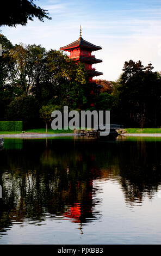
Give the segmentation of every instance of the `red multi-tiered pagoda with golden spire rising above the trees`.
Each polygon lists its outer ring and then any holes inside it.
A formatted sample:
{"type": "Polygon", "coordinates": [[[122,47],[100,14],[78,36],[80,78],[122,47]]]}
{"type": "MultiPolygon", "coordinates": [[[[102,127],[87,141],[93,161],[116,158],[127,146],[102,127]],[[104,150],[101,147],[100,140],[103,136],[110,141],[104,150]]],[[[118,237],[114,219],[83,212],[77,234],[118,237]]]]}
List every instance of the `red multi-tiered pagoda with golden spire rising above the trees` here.
{"type": "Polygon", "coordinates": [[[100,63],[102,62],[101,59],[96,59],[95,55],[92,55],[91,53],[93,51],[101,50],[102,47],[96,46],[91,44],[88,41],[85,41],[82,38],[82,29],[80,26],[80,37],[75,42],[72,42],[69,45],[66,45],[64,47],[61,47],[60,50],[70,52],[70,59],[75,60],[76,62],[84,63],[86,72],[89,77],[89,84],[90,86],[95,87],[102,87],[100,84],[96,84],[93,81],[94,76],[100,76],[103,75],[102,72],[96,71],[95,68],[92,68],[92,64],[100,63]]]}

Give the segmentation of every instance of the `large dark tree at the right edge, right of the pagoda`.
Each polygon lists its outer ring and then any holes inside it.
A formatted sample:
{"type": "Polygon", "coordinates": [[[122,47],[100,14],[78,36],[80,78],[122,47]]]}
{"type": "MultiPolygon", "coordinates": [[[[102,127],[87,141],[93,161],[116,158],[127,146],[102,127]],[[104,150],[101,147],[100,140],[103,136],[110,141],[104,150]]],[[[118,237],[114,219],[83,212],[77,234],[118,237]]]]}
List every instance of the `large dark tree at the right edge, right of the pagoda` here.
{"type": "Polygon", "coordinates": [[[130,126],[157,126],[160,115],[161,79],[152,64],[125,62],[119,81],[119,108],[123,123],[130,126]],[[158,117],[158,118],[157,118],[158,117]]]}

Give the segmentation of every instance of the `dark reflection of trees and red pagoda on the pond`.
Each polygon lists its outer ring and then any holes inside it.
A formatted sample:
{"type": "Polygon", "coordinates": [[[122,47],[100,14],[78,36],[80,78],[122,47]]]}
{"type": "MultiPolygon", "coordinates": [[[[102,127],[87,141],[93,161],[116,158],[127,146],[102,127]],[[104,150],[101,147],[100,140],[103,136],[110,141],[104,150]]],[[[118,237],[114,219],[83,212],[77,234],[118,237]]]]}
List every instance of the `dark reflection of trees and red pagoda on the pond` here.
{"type": "Polygon", "coordinates": [[[1,151],[0,230],[14,223],[101,218],[95,180],[119,182],[128,205],[153,198],[161,184],[160,142],[5,139],[1,151]]]}

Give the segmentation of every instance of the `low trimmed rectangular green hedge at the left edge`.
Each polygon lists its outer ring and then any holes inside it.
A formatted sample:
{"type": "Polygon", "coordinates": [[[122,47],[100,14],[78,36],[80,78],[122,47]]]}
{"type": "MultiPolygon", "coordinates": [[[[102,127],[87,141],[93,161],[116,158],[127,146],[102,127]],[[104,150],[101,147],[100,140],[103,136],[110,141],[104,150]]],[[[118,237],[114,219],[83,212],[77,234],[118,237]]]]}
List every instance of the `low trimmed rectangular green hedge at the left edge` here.
{"type": "Polygon", "coordinates": [[[22,131],[22,121],[0,121],[0,131],[22,131]]]}

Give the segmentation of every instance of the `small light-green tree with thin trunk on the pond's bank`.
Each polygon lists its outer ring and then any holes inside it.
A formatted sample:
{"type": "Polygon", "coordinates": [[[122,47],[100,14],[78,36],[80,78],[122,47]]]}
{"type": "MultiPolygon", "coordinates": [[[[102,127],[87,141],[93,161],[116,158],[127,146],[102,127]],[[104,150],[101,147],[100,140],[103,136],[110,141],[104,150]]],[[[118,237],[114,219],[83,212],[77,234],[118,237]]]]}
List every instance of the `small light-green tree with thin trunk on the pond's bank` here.
{"type": "Polygon", "coordinates": [[[46,123],[46,133],[47,133],[47,124],[52,121],[51,114],[54,110],[59,110],[59,106],[55,105],[47,105],[47,106],[42,106],[40,109],[40,117],[45,121],[46,123]]]}

